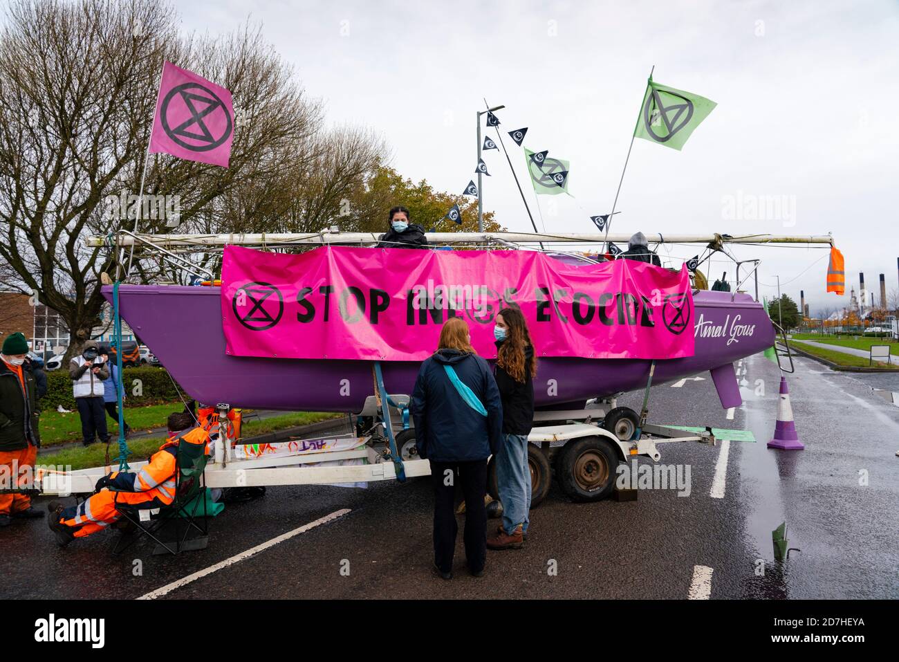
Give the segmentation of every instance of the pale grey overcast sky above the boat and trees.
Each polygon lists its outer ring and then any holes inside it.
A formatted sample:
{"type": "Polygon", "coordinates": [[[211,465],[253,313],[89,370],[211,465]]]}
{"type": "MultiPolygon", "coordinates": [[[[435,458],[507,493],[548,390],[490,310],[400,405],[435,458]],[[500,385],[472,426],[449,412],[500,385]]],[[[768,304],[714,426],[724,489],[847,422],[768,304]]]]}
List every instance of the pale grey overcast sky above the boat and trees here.
{"type": "MultiPolygon", "coordinates": [[[[520,177],[525,145],[571,162],[574,196],[540,196],[547,231],[592,231],[610,210],[645,80],[717,102],[681,152],[637,139],[614,232],[832,232],[845,299],[824,292],[826,250],[742,246],[761,257],[761,294],[813,313],[848,300],[859,271],[899,289],[899,4],[852,2],[307,2],[178,0],[186,31],[261,23],[329,121],[380,131],[392,165],[461,192],[476,165],[475,112],[498,112],[520,177]],[[753,202],[761,211],[752,215],[753,202]],[[765,204],[778,203],[776,218],[765,204]],[[736,217],[734,218],[734,208],[736,217]],[[743,210],[743,213],[741,213],[743,210]],[[747,218],[751,216],[752,218],[747,218]],[[815,262],[817,261],[817,262],[815,262]]],[[[239,104],[239,100],[236,100],[239,104]]],[[[491,135],[493,130],[491,130],[491,135]]],[[[502,152],[485,161],[485,209],[530,221],[502,152]]],[[[523,182],[540,219],[530,184],[523,182]]],[[[400,202],[400,201],[397,201],[400,202]]],[[[672,265],[697,251],[672,246],[672,265]]],[[[667,254],[662,248],[660,253],[667,254]]],[[[734,266],[717,260],[711,275],[734,266]]]]}

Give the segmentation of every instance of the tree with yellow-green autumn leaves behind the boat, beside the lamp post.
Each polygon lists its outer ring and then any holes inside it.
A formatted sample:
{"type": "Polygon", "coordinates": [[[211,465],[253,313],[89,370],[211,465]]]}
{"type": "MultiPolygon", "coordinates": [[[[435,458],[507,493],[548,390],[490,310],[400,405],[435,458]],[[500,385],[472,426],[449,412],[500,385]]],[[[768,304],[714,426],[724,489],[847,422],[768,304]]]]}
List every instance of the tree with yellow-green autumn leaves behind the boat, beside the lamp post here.
{"type": "MultiPolygon", "coordinates": [[[[369,178],[350,201],[343,217],[337,219],[341,229],[356,232],[386,232],[387,213],[391,207],[403,205],[411,222],[434,232],[476,232],[477,200],[463,195],[434,191],[426,180],[413,183],[393,168],[382,166],[369,178]],[[462,224],[444,218],[454,204],[461,211],[462,224]]],[[[486,232],[502,232],[493,211],[484,212],[486,232]]]]}

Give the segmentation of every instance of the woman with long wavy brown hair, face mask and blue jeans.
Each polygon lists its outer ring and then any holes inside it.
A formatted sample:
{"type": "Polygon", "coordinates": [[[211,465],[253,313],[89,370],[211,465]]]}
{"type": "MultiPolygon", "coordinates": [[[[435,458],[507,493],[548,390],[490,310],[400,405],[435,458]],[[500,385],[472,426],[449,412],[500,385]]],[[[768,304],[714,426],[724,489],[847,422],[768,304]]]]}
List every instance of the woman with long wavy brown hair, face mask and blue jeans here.
{"type": "Polygon", "coordinates": [[[528,434],[534,420],[532,379],[537,374],[537,359],[520,309],[500,310],[494,337],[498,348],[494,376],[503,400],[503,444],[494,461],[503,523],[487,540],[487,547],[510,550],[524,544],[530,524],[528,434]]]}

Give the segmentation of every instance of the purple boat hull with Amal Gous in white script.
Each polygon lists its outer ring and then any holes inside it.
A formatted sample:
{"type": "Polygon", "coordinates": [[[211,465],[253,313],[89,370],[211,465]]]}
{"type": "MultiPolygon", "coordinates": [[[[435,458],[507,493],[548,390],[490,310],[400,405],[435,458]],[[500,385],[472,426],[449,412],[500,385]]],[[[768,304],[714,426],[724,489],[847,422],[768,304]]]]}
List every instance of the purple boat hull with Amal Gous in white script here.
{"type": "MultiPolygon", "coordinates": [[[[104,287],[103,295],[111,300],[112,288],[104,287]]],[[[198,402],[358,412],[374,393],[369,361],[227,355],[218,287],[121,285],[119,300],[122,318],[198,402]]],[[[729,366],[774,344],[770,318],[748,295],[730,292],[700,291],[694,309],[695,354],[656,361],[653,383],[723,367],[713,372],[722,405],[739,404],[729,366]]],[[[412,392],[419,362],[382,362],[382,366],[388,392],[412,392]]],[[[583,405],[589,398],[642,389],[649,366],[650,361],[643,359],[541,357],[534,383],[536,405],[583,405]]]]}

